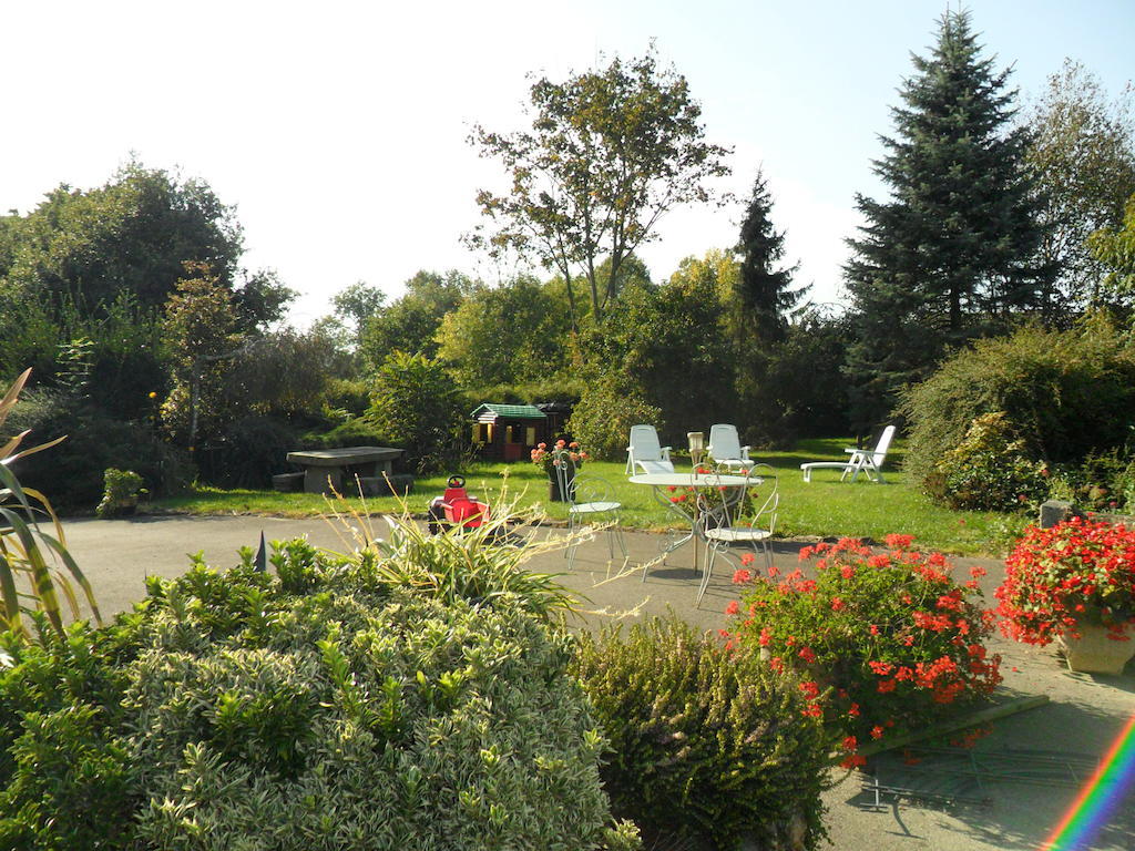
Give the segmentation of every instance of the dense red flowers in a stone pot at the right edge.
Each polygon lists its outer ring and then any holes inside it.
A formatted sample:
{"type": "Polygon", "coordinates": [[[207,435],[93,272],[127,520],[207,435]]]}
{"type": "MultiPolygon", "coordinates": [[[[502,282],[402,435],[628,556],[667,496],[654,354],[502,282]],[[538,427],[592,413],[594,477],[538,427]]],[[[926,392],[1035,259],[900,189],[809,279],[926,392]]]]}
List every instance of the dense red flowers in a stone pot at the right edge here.
{"type": "Polygon", "coordinates": [[[1059,642],[1073,671],[1120,673],[1135,655],[1135,529],[1081,517],[1026,529],[997,599],[1008,638],[1059,642]]]}

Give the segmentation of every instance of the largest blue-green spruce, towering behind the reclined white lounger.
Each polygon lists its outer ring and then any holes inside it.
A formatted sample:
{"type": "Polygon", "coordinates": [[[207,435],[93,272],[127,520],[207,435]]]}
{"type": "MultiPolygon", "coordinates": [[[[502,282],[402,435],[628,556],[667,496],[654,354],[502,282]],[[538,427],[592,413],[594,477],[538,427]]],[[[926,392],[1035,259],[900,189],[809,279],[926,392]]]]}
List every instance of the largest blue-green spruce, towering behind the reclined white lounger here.
{"type": "MultiPolygon", "coordinates": [[[[1024,169],[1027,137],[1012,128],[1009,70],[983,59],[967,12],[947,11],[928,59],[892,109],[893,138],[875,174],[891,200],[856,196],[866,219],[844,267],[857,343],[848,355],[852,419],[869,428],[896,391],[925,378],[948,347],[990,332],[1035,303],[1045,273],[1024,169]]],[[[1049,272],[1051,275],[1051,272],[1049,272]]]]}

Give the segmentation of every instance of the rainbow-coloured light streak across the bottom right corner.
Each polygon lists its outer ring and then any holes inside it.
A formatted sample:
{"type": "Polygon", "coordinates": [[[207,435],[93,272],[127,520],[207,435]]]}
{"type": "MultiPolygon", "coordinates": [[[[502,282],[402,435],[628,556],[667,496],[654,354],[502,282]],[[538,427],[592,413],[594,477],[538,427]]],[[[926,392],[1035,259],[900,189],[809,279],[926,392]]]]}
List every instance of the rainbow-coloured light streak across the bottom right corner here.
{"type": "Polygon", "coordinates": [[[1060,824],[1041,845],[1040,851],[1078,851],[1108,824],[1116,808],[1135,785],[1135,715],[1112,742],[1060,824]]]}

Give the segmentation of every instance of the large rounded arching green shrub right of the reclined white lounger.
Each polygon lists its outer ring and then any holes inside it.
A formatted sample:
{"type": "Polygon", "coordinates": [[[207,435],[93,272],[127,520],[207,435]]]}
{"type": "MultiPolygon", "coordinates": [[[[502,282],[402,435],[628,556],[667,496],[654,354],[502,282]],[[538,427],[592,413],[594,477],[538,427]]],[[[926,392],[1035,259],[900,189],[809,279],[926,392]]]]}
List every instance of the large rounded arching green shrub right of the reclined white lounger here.
{"type": "Polygon", "coordinates": [[[1078,465],[1123,446],[1135,421],[1135,348],[1128,335],[1093,318],[1068,331],[1026,327],[987,339],[942,363],[903,395],[905,469],[926,482],[982,414],[1003,411],[1023,455],[1078,465]]]}

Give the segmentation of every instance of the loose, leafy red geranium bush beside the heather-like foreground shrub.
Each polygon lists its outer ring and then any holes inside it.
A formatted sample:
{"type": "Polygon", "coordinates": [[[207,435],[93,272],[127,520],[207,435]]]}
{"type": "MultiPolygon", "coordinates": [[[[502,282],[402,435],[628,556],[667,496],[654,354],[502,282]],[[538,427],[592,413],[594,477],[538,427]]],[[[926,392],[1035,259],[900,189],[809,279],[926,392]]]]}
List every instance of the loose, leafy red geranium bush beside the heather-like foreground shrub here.
{"type": "Polygon", "coordinates": [[[920,730],[987,698],[1001,681],[1000,657],[984,640],[994,618],[981,605],[977,579],[958,582],[941,553],[911,549],[890,534],[890,551],[855,539],[800,551],[802,570],[768,575],[742,559],[733,575],[741,600],[724,631],[740,652],[804,677],[805,713],[824,718],[842,743],[844,767],[863,765],[864,748],[920,730]]]}

